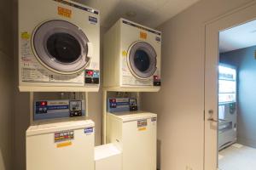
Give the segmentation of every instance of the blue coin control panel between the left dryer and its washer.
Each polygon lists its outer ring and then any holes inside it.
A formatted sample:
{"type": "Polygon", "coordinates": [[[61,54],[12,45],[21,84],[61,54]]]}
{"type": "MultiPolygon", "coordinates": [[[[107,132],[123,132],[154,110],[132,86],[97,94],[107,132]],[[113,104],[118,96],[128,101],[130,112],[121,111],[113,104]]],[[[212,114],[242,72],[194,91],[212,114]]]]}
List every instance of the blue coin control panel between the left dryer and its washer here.
{"type": "Polygon", "coordinates": [[[34,102],[34,121],[84,115],[84,100],[38,100],[34,102]]]}

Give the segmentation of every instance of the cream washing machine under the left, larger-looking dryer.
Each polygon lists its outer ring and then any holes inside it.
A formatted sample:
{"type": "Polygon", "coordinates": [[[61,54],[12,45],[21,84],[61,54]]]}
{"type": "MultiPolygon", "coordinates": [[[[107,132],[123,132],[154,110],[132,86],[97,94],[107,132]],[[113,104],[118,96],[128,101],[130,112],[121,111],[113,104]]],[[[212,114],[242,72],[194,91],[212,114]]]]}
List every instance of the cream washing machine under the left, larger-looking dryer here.
{"type": "Polygon", "coordinates": [[[44,122],[26,130],[26,170],[95,170],[94,122],[44,122]]]}

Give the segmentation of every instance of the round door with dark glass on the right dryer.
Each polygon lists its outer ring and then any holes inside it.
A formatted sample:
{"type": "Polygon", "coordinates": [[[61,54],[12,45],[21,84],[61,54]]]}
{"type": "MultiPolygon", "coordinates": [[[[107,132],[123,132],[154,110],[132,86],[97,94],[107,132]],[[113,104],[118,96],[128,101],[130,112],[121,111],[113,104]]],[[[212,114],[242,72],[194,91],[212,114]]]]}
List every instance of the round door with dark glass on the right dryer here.
{"type": "Polygon", "coordinates": [[[156,53],[148,42],[135,42],[128,56],[131,73],[140,79],[152,77],[156,71],[156,53]]]}

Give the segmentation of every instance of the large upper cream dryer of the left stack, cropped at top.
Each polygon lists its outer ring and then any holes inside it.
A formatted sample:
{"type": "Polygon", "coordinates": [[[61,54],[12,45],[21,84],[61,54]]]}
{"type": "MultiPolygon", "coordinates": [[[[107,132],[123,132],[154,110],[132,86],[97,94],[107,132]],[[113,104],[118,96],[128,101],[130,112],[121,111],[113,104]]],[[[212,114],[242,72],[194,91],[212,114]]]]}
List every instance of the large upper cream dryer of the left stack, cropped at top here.
{"type": "Polygon", "coordinates": [[[73,1],[19,1],[20,91],[32,87],[98,91],[99,22],[99,11],[73,1]]]}

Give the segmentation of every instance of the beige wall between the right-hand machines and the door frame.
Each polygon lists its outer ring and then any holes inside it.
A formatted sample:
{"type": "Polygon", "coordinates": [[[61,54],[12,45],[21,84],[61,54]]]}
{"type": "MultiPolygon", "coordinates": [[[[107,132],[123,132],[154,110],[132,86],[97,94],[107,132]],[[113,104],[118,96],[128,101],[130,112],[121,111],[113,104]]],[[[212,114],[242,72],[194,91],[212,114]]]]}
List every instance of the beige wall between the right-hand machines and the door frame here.
{"type": "Polygon", "coordinates": [[[143,94],[158,114],[161,170],[203,169],[204,23],[250,0],[202,0],[160,26],[162,88],[143,94]]]}

